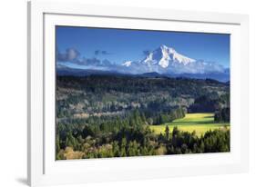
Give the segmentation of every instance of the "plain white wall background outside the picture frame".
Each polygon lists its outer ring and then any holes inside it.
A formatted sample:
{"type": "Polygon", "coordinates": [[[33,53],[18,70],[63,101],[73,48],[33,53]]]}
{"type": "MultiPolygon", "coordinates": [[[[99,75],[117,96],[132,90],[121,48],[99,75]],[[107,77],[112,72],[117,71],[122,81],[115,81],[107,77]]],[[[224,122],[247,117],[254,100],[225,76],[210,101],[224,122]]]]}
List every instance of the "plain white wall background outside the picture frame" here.
{"type": "MultiPolygon", "coordinates": [[[[75,1],[79,0],[73,0],[75,1]]],[[[256,6],[253,5],[255,1],[84,0],[82,2],[95,5],[124,5],[250,15],[250,172],[165,180],[93,183],[87,186],[255,186],[256,6]]],[[[2,0],[0,2],[0,56],[0,186],[26,186],[26,0],[2,0]]]]}

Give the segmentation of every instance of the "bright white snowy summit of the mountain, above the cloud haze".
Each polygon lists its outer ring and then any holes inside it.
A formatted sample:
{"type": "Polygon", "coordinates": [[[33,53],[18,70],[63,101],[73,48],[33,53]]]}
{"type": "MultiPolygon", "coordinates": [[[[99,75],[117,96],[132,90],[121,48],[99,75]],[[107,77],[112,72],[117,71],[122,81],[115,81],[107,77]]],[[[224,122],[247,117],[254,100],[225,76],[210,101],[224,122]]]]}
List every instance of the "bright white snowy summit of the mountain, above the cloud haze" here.
{"type": "Polygon", "coordinates": [[[195,62],[194,59],[179,54],[175,49],[162,44],[159,48],[149,53],[142,61],[142,64],[159,64],[162,68],[167,68],[171,63],[186,65],[193,62],[195,62]]]}

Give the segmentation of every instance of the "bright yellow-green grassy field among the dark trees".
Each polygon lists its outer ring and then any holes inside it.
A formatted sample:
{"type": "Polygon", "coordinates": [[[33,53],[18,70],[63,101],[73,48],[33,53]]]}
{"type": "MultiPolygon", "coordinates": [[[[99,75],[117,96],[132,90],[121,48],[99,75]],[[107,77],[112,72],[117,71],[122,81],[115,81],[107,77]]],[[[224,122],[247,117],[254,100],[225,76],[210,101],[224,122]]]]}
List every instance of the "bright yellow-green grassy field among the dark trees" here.
{"type": "Polygon", "coordinates": [[[214,113],[187,113],[182,119],[172,123],[150,125],[150,128],[155,133],[165,133],[166,125],[169,125],[170,132],[174,126],[177,126],[180,131],[189,133],[195,131],[198,136],[210,130],[230,128],[230,123],[214,123],[214,113]]]}

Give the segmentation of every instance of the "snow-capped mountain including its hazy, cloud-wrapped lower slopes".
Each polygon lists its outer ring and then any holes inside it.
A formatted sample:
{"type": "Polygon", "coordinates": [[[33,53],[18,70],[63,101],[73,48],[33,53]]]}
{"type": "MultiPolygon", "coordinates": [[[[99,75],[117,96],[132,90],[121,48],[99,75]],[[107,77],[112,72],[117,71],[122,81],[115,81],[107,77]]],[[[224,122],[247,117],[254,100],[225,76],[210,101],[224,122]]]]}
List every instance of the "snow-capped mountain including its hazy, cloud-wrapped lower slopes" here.
{"type": "Polygon", "coordinates": [[[122,64],[123,72],[143,74],[157,72],[159,74],[209,74],[222,73],[224,67],[214,62],[195,60],[179,54],[174,48],[160,45],[140,61],[127,61],[122,64]]]}

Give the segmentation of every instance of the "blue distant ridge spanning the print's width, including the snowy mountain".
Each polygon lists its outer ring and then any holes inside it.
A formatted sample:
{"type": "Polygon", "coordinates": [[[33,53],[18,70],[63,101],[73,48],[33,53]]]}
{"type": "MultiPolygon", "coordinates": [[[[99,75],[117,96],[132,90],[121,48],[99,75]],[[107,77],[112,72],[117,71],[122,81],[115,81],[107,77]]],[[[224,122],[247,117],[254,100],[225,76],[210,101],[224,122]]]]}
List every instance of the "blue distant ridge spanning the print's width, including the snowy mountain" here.
{"type": "MultiPolygon", "coordinates": [[[[106,61],[106,60],[105,60],[106,61]]],[[[104,62],[105,62],[104,61],[104,62]]],[[[101,62],[100,65],[89,64],[84,69],[69,68],[65,64],[57,64],[57,73],[72,75],[89,74],[130,74],[168,77],[190,77],[199,79],[215,79],[220,82],[230,81],[230,69],[215,62],[195,60],[184,54],[179,54],[174,48],[160,45],[149,52],[142,60],[125,61],[123,64],[101,62]]]]}

